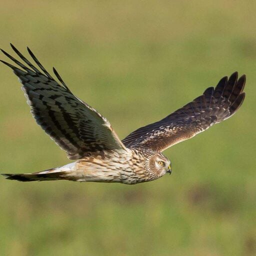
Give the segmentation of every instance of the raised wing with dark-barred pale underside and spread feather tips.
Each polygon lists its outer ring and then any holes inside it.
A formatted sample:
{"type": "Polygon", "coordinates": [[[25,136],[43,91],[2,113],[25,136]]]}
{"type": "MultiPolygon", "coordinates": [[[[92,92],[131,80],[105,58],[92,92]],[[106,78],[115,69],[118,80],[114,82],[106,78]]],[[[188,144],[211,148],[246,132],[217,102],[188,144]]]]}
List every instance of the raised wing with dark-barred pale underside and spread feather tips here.
{"type": "Polygon", "coordinates": [[[1,51],[19,68],[1,61],[13,69],[23,84],[22,89],[36,122],[67,152],[68,158],[81,158],[88,151],[125,149],[108,120],[77,98],[54,67],[53,71],[61,85],[44,69],[29,48],[30,56],[41,70],[12,44],[11,47],[26,65],[4,50],[1,51]]]}

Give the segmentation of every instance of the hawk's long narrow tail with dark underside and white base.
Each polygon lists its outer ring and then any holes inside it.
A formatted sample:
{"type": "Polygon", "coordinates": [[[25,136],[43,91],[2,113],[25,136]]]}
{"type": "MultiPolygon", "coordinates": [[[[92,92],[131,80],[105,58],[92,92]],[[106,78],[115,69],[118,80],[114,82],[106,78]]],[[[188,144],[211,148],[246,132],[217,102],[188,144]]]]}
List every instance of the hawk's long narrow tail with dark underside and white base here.
{"type": "Polygon", "coordinates": [[[14,179],[18,181],[42,181],[42,180],[58,180],[68,179],[73,180],[71,174],[71,164],[66,164],[61,167],[48,170],[33,172],[33,173],[2,173],[6,179],[14,179]]]}

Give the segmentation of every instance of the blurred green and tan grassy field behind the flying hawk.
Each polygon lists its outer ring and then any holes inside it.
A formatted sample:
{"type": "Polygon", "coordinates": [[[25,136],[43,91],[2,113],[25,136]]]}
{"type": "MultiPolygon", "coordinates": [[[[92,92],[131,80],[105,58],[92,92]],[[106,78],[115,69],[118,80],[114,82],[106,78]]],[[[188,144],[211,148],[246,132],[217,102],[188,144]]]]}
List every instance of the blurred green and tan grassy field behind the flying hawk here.
{"type": "MultiPolygon", "coordinates": [[[[137,185],[0,178],[0,255],[255,255],[255,1],[1,1],[0,47],[29,46],[120,138],[247,75],[227,121],[169,148],[137,185]]],[[[0,58],[6,60],[3,54],[0,58]]],[[[70,162],[0,65],[0,170],[70,162]]]]}

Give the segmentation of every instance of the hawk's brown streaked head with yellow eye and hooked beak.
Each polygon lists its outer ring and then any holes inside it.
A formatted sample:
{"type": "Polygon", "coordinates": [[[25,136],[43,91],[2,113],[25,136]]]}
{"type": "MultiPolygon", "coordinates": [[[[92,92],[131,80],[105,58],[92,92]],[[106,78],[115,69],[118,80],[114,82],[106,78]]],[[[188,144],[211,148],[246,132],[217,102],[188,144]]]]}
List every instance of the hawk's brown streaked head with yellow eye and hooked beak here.
{"type": "Polygon", "coordinates": [[[170,160],[167,159],[162,153],[153,155],[149,160],[150,170],[156,173],[159,177],[166,172],[171,173],[170,160]]]}

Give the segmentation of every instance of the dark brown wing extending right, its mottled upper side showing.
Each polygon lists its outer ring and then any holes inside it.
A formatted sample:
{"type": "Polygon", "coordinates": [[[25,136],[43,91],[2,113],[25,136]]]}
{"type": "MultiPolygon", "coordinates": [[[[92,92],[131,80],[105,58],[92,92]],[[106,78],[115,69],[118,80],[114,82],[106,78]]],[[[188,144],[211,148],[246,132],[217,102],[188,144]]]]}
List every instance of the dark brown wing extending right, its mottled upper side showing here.
{"type": "Polygon", "coordinates": [[[203,94],[160,121],[131,132],[122,142],[126,147],[142,146],[157,151],[191,138],[215,123],[233,115],[240,107],[245,93],[245,75],[237,81],[237,72],[229,79],[223,77],[215,88],[203,94]]]}

